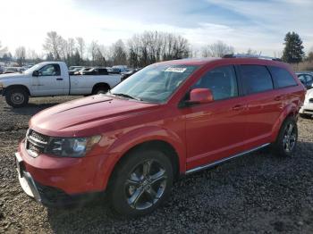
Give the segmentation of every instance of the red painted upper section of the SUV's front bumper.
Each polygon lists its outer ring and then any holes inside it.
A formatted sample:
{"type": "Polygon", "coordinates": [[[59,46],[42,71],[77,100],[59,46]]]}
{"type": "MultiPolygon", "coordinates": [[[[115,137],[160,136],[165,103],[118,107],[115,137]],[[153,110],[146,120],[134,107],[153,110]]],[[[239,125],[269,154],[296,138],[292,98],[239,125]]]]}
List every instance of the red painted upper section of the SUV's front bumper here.
{"type": "Polygon", "coordinates": [[[105,190],[104,180],[99,180],[103,177],[98,174],[103,171],[99,168],[101,155],[70,158],[40,154],[32,157],[25,148],[24,140],[18,154],[21,155],[25,171],[42,185],[61,189],[69,195],[105,190]]]}

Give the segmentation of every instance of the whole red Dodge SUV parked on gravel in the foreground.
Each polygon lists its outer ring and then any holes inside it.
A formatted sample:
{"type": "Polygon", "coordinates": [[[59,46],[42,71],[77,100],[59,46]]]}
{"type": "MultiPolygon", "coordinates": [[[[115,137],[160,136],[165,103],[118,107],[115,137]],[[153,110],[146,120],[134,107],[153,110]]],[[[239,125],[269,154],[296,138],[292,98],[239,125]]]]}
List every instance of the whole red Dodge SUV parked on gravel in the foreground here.
{"type": "Polygon", "coordinates": [[[43,205],[106,191],[115,212],[150,213],[180,175],[269,145],[292,155],[304,96],[274,59],[155,63],[106,95],[33,116],[15,154],[21,187],[43,205]]]}

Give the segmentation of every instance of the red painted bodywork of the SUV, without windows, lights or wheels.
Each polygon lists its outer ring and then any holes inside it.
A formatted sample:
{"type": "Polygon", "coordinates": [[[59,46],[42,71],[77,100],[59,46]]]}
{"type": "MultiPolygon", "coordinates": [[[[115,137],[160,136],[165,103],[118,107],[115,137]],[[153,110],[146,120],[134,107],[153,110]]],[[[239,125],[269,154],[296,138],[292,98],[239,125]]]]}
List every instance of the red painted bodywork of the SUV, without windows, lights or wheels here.
{"type": "Polygon", "coordinates": [[[304,99],[304,88],[294,76],[296,87],[179,108],[190,86],[216,66],[260,64],[291,69],[285,63],[238,58],[165,63],[200,65],[166,104],[89,96],[55,105],[31,118],[30,128],[48,136],[102,135],[97,146],[80,159],[52,155],[32,158],[21,143],[19,152],[33,178],[69,194],[104,190],[121,157],[131,147],[150,140],[162,140],[173,146],[179,157],[179,170],[184,173],[274,142],[285,117],[296,115],[304,99]]]}

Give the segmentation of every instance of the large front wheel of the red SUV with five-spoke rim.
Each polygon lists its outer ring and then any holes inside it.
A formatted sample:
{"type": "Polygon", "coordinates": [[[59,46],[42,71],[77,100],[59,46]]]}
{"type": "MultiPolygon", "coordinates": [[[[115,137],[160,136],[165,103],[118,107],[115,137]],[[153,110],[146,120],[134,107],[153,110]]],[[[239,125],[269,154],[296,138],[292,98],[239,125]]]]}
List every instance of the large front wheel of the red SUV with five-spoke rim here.
{"type": "Polygon", "coordinates": [[[115,215],[126,218],[153,212],[170,195],[173,167],[168,157],[157,150],[136,150],[114,171],[108,188],[115,215]]]}

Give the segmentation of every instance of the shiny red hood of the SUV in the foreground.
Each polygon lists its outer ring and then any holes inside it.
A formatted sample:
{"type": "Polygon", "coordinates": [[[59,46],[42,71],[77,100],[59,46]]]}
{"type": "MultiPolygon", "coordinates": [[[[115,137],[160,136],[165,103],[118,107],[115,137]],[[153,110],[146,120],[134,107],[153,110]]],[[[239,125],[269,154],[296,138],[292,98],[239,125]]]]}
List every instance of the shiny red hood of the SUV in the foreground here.
{"type": "Polygon", "coordinates": [[[106,95],[83,97],[37,113],[30,119],[30,128],[51,137],[90,136],[157,106],[106,95]]]}

